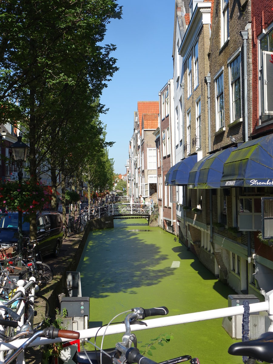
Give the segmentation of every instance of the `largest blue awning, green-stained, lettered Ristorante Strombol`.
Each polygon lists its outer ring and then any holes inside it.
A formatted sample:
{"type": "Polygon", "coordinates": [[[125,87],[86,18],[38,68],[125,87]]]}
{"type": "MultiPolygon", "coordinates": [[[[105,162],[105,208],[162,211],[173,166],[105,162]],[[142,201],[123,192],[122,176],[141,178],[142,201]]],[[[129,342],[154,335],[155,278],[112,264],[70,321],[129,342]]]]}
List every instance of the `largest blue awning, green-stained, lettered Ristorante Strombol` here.
{"type": "Polygon", "coordinates": [[[220,186],[273,186],[273,134],[234,150],[223,165],[220,186]]]}

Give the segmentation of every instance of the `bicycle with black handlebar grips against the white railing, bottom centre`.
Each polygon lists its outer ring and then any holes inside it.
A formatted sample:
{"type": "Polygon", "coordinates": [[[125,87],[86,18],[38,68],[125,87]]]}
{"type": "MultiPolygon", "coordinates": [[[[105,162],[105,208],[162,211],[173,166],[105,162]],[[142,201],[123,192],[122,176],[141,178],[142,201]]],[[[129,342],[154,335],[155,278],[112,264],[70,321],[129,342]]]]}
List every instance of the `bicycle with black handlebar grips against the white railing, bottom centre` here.
{"type": "MultiPolygon", "coordinates": [[[[84,351],[78,352],[76,354],[76,360],[78,364],[131,364],[140,362],[141,364],[156,364],[153,360],[141,355],[137,348],[137,337],[135,336],[135,334],[131,333],[130,325],[134,324],[137,320],[144,319],[145,317],[166,315],[169,313],[169,310],[164,306],[151,309],[143,309],[141,307],[137,307],[126,312],[130,313],[128,313],[124,319],[126,332],[122,337],[122,341],[117,343],[115,348],[110,348],[106,350],[103,350],[102,347],[98,348],[95,344],[93,344],[95,346],[95,351],[86,351],[83,347],[84,351]],[[132,347],[132,344],[134,345],[134,347],[132,347]],[[98,350],[96,350],[96,348],[99,349],[100,353],[98,353],[98,350]]],[[[114,320],[114,318],[112,320],[114,320]]],[[[112,322],[112,320],[110,321],[110,323],[112,322]]],[[[107,325],[107,327],[110,325],[110,323],[107,325]]],[[[187,360],[190,361],[190,364],[200,364],[198,358],[192,358],[190,355],[180,356],[174,359],[163,361],[159,364],[175,364],[187,360]]]]}

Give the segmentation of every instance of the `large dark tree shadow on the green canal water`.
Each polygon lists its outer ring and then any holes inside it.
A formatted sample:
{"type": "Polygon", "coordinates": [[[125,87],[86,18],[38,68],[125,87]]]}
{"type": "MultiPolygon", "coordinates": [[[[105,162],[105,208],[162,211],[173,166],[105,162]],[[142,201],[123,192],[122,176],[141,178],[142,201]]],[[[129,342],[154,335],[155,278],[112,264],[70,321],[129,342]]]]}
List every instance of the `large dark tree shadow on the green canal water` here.
{"type": "MultiPolygon", "coordinates": [[[[131,227],[131,223],[119,225],[131,227]]],[[[173,269],[159,266],[169,256],[142,236],[120,226],[91,233],[78,266],[82,295],[103,298],[117,292],[135,294],[134,288],[151,286],[173,275],[173,269]]]]}

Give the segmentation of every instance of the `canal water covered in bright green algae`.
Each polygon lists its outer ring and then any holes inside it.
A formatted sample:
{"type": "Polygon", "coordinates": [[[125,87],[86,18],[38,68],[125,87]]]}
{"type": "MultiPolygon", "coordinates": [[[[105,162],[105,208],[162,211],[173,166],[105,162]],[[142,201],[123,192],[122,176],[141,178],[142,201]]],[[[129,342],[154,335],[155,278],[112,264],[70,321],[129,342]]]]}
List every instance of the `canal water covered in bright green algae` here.
{"type": "MultiPolygon", "coordinates": [[[[235,292],[215,279],[177,237],[147,226],[145,219],[114,220],[114,226],[89,234],[78,266],[82,296],[90,297],[90,327],[107,324],[116,314],[139,306],[166,306],[169,316],[227,307],[227,296],[235,292]]],[[[241,357],[227,353],[235,341],[221,324],[219,318],[135,335],[140,350],[161,334],[173,336],[164,346],[154,345],[149,357],[157,362],[191,355],[201,364],[242,363],[241,357]]],[[[103,347],[114,347],[121,339],[122,334],[106,336],[103,347]]]]}

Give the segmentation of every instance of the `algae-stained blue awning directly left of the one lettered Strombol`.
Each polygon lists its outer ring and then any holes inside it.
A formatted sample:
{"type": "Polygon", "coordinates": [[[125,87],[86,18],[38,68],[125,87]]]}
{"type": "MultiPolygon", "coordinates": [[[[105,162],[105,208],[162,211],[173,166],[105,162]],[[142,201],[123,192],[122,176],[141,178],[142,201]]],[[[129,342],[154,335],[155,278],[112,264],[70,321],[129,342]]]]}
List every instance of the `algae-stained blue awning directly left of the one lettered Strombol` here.
{"type": "Polygon", "coordinates": [[[197,188],[220,188],[223,165],[230,156],[230,153],[235,149],[237,148],[230,147],[210,154],[210,157],[206,159],[199,169],[197,188]]]}

